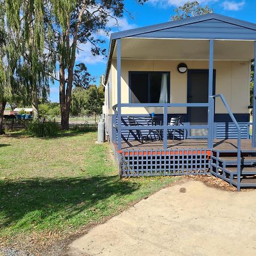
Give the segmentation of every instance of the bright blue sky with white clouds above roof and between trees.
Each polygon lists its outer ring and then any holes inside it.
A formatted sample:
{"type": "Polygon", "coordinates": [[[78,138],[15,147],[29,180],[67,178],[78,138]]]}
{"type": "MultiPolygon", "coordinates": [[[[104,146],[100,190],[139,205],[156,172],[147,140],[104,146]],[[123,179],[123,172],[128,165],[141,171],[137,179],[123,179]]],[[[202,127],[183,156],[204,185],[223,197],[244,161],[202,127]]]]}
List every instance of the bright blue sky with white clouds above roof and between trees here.
{"type": "MultiPolygon", "coordinates": [[[[191,0],[192,1],[192,0],[191,0]]],[[[209,5],[214,9],[214,13],[232,16],[237,19],[243,19],[256,23],[256,1],[255,0],[197,0],[202,5],[209,5]]],[[[109,21],[109,27],[112,32],[127,30],[130,28],[143,27],[151,24],[167,22],[170,16],[174,14],[177,6],[183,5],[187,0],[148,0],[143,6],[138,5],[135,0],[126,0],[126,10],[129,10],[133,18],[125,14],[123,18],[118,19],[119,27],[115,26],[115,21],[109,21]]],[[[108,50],[109,38],[106,35],[99,35],[106,40],[102,46],[108,50]]],[[[106,68],[106,59],[104,56],[90,56],[90,46],[85,44],[80,46],[84,51],[80,51],[77,56],[77,63],[84,62],[88,71],[97,80],[104,74],[106,68]]],[[[59,84],[56,82],[51,85],[49,99],[52,102],[59,102],[59,84]]]]}

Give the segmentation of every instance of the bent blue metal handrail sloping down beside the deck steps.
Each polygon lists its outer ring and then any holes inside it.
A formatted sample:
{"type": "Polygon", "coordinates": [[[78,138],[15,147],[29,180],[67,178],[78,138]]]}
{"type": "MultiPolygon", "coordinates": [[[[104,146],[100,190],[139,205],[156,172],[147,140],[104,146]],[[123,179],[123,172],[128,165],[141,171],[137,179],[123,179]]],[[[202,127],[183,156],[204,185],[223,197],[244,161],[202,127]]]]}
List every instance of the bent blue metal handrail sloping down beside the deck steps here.
{"type": "Polygon", "coordinates": [[[216,94],[213,96],[210,96],[212,98],[217,98],[220,97],[226,110],[228,110],[229,116],[232,119],[234,125],[237,128],[237,191],[240,191],[240,184],[241,184],[241,128],[238,125],[238,122],[236,120],[236,118],[234,117],[231,109],[229,108],[228,103],[225,100],[225,97],[220,93],[220,94],[216,94]]]}

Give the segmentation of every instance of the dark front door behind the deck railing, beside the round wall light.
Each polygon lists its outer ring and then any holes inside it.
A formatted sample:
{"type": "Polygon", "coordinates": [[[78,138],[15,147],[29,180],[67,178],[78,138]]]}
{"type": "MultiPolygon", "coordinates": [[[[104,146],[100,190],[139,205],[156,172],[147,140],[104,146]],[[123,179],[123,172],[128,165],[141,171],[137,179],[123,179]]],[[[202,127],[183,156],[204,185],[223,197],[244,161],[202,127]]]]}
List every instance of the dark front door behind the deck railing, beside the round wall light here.
{"type": "MultiPolygon", "coordinates": [[[[215,94],[215,75],[213,71],[213,94],[215,94]]],[[[189,69],[188,70],[188,103],[207,103],[208,102],[208,69],[189,69]]],[[[188,122],[191,125],[207,125],[208,108],[193,107],[188,108],[188,122]]],[[[207,129],[191,129],[188,137],[207,138],[207,129]]]]}

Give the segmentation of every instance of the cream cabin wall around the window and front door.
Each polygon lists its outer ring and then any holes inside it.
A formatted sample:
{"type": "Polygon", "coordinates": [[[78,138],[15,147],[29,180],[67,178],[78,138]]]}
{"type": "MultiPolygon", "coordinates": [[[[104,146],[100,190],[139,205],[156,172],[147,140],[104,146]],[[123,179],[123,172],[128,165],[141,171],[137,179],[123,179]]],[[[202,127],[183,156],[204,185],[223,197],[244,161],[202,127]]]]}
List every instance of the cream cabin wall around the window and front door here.
{"type": "MultiPolygon", "coordinates": [[[[122,60],[121,86],[122,103],[129,103],[129,71],[168,71],[171,73],[171,103],[187,102],[187,73],[177,71],[177,65],[184,62],[188,69],[208,69],[208,61],[188,60],[122,60]]],[[[216,94],[224,94],[233,113],[248,113],[250,98],[250,62],[214,61],[216,69],[216,94]]],[[[117,104],[117,64],[112,61],[109,73],[110,110],[117,104]]],[[[163,113],[162,108],[122,108],[122,114],[163,113]]],[[[168,113],[187,113],[186,108],[168,108],[168,113]]],[[[220,100],[216,101],[216,113],[227,113],[220,100]]]]}

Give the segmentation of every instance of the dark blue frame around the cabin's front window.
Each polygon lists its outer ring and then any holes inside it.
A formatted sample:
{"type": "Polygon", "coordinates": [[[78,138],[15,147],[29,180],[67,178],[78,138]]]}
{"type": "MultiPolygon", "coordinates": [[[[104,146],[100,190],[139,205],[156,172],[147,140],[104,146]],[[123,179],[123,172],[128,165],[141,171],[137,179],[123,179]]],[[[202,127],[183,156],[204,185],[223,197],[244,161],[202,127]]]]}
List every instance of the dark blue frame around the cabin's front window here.
{"type": "MultiPolygon", "coordinates": [[[[147,74],[147,89],[148,89],[148,95],[147,95],[147,104],[151,103],[150,102],[150,74],[151,73],[167,73],[169,75],[168,79],[168,103],[171,102],[171,72],[170,71],[129,71],[129,103],[132,104],[131,102],[131,75],[133,74],[147,74]]],[[[141,103],[143,104],[143,103],[141,103]]],[[[160,103],[159,103],[160,104],[160,103]]]]}

